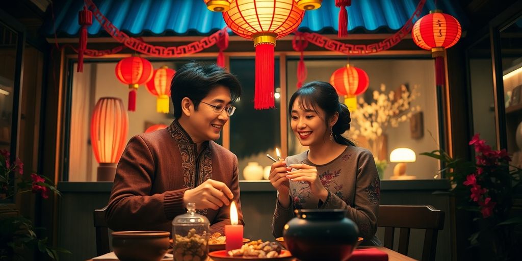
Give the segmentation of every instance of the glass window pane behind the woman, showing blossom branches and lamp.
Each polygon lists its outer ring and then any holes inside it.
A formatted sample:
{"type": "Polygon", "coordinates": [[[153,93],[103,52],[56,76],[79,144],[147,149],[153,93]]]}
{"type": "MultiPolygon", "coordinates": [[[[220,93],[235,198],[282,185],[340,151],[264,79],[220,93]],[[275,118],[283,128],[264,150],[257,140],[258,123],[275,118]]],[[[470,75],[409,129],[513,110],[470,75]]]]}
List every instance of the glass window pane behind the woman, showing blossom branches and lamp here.
{"type": "MultiPolygon", "coordinates": [[[[296,90],[296,68],[298,61],[288,61],[288,100],[296,90]]],[[[390,179],[397,163],[389,162],[389,153],[396,148],[406,147],[412,149],[416,155],[416,162],[407,163],[407,175],[416,179],[433,179],[438,170],[438,162],[431,158],[419,156],[419,153],[438,148],[438,123],[437,123],[437,99],[434,80],[434,62],[431,59],[368,59],[350,60],[351,66],[363,69],[369,77],[369,88],[357,97],[358,103],[355,111],[352,109],[352,123],[350,131],[345,136],[352,138],[358,146],[372,151],[376,160],[383,162],[382,179],[390,179]],[[365,132],[361,125],[371,124],[370,116],[365,116],[372,103],[376,103],[379,113],[385,114],[386,104],[374,100],[374,92],[384,94],[387,102],[396,103],[401,99],[401,86],[408,92],[419,94],[410,102],[409,109],[394,115],[389,121],[376,121],[378,128],[382,129],[382,135],[372,137],[371,132],[365,132]],[[390,91],[394,92],[392,97],[390,91]],[[368,105],[361,104],[360,102],[368,105]],[[365,108],[364,108],[365,107],[365,108]],[[414,110],[411,110],[414,108],[414,110]],[[357,116],[359,115],[359,116],[357,116]],[[398,120],[400,119],[400,120],[398,120]],[[397,126],[391,126],[398,120],[397,126]],[[430,134],[431,133],[431,134],[430,134]],[[375,146],[372,146],[374,144],[375,146]],[[384,165],[386,165],[385,167],[384,165]]],[[[307,60],[305,65],[308,71],[306,82],[319,80],[330,81],[330,76],[335,70],[346,66],[347,60],[307,60]]],[[[404,92],[403,92],[404,93],[404,92]]],[[[341,102],[344,97],[340,97],[341,102]]],[[[288,102],[288,101],[287,101],[288,102]]],[[[347,101],[348,102],[348,101],[347,101]]],[[[348,105],[350,107],[350,105],[348,105]]],[[[288,153],[296,153],[307,150],[299,144],[291,128],[288,128],[288,153]]]]}

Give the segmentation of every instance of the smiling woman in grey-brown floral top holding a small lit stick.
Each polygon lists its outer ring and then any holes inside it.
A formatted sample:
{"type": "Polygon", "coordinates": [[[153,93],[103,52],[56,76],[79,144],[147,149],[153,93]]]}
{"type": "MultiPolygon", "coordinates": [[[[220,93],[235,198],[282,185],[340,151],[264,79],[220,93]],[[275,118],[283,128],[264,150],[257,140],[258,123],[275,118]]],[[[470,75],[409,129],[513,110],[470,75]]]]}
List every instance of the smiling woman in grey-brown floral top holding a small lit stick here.
{"type": "Polygon", "coordinates": [[[364,244],[380,245],[379,176],[372,153],[341,136],[350,129],[347,106],[328,82],[314,81],[292,95],[288,108],[293,133],[310,149],[272,164],[270,183],[278,192],[274,236],[282,236],[294,209],[340,208],[357,223],[364,244]]]}

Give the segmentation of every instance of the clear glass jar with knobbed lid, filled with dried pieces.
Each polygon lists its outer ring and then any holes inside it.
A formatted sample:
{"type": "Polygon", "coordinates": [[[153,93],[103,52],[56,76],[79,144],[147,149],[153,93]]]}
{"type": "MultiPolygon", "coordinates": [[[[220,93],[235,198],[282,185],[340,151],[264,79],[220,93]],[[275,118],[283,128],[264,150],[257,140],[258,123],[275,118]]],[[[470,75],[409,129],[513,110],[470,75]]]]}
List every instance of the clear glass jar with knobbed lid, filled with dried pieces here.
{"type": "Polygon", "coordinates": [[[196,204],[188,203],[187,212],[172,220],[174,260],[206,260],[209,229],[207,217],[196,213],[196,204]]]}

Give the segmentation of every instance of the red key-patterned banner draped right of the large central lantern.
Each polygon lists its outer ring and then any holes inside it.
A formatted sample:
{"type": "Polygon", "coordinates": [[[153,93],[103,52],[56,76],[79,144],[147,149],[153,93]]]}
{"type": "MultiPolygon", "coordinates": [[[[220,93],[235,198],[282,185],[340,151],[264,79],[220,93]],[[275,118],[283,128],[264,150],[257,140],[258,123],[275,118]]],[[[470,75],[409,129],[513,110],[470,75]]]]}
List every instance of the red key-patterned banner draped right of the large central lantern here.
{"type": "Polygon", "coordinates": [[[394,45],[396,45],[402,38],[404,38],[406,35],[408,35],[411,31],[411,28],[413,27],[413,19],[418,19],[420,15],[422,14],[422,7],[424,7],[424,4],[426,3],[426,0],[421,0],[419,4],[417,5],[417,9],[413,12],[413,15],[410,17],[408,21],[402,26],[402,28],[397,31],[394,35],[392,35],[389,38],[384,39],[381,42],[378,43],[372,43],[372,44],[349,44],[349,43],[341,43],[336,40],[331,40],[321,34],[318,33],[308,33],[303,32],[304,38],[308,40],[310,43],[313,43],[319,47],[322,47],[324,49],[334,51],[334,52],[340,52],[345,53],[348,55],[365,55],[365,54],[372,54],[372,53],[378,53],[381,51],[388,50],[392,48],[394,45]]]}

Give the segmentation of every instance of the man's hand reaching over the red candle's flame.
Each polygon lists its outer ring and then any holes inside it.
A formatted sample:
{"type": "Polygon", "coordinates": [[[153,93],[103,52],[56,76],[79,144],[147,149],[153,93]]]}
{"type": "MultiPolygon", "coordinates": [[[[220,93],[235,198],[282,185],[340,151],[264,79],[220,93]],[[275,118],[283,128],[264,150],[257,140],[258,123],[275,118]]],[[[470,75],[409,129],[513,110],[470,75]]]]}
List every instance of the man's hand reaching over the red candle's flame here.
{"type": "Polygon", "coordinates": [[[185,205],[193,202],[197,209],[218,209],[223,205],[228,206],[232,198],[234,198],[234,195],[227,185],[208,179],[199,186],[185,191],[183,202],[185,205]]]}

